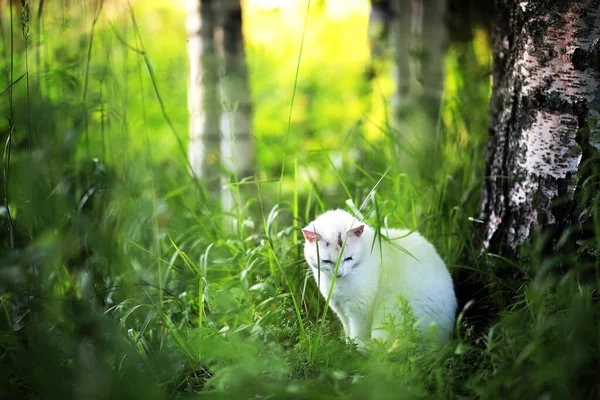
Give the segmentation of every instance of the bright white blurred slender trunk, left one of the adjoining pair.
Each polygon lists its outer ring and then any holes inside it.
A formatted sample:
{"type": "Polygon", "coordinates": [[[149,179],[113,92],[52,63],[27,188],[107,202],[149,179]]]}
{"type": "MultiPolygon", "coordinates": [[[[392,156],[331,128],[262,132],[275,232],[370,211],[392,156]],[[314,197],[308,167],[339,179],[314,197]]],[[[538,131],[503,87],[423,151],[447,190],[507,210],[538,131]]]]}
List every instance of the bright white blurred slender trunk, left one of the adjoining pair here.
{"type": "Polygon", "coordinates": [[[194,174],[218,192],[220,163],[217,55],[214,43],[212,0],[186,0],[190,80],[188,157],[194,174]]]}

